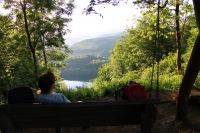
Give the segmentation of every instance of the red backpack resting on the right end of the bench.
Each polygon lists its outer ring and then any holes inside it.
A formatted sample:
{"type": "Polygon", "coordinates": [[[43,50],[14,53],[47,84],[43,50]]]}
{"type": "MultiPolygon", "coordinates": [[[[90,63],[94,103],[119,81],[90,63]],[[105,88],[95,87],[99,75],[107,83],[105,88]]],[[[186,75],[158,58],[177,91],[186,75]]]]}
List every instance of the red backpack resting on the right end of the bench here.
{"type": "Polygon", "coordinates": [[[127,86],[124,90],[124,96],[126,97],[127,100],[147,98],[145,87],[138,83],[133,83],[127,86]]]}

